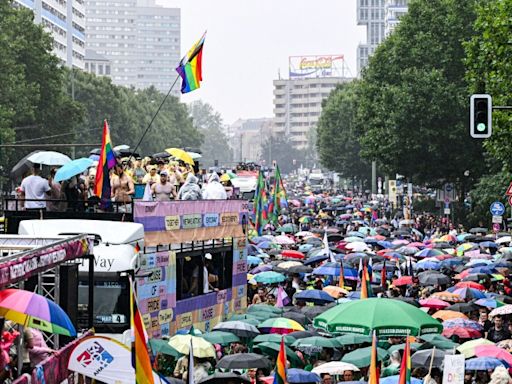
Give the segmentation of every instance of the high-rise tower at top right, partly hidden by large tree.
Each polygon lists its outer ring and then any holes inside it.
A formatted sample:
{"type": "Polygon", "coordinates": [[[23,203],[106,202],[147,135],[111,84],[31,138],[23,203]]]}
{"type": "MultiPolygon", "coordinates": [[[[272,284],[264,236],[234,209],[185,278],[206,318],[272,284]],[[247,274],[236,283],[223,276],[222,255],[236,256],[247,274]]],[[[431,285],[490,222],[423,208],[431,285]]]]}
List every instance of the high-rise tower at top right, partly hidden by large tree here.
{"type": "Polygon", "coordinates": [[[385,37],[386,0],[357,0],[357,24],[366,26],[366,43],[357,47],[357,73],[385,37]]]}

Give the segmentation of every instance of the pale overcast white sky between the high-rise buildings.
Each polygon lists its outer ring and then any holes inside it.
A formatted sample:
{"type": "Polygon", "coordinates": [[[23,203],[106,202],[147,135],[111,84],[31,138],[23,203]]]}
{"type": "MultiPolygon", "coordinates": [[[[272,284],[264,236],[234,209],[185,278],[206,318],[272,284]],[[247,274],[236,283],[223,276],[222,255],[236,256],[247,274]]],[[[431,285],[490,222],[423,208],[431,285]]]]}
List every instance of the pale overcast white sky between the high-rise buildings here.
{"type": "Polygon", "coordinates": [[[203,100],[224,122],[273,116],[272,81],[288,76],[288,57],[343,54],[357,75],[356,0],[156,0],[181,8],[182,55],[207,30],[201,88],[182,96],[203,100]]]}

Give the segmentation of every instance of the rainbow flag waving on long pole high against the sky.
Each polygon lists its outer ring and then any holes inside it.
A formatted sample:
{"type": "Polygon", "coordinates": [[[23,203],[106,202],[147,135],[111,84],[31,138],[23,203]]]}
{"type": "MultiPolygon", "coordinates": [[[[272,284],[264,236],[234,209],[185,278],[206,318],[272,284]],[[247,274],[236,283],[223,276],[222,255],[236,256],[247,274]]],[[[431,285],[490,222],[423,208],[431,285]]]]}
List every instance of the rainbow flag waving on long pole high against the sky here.
{"type": "Polygon", "coordinates": [[[181,76],[181,93],[188,93],[201,86],[203,80],[202,57],[206,32],[181,59],[176,71],[181,76]]]}

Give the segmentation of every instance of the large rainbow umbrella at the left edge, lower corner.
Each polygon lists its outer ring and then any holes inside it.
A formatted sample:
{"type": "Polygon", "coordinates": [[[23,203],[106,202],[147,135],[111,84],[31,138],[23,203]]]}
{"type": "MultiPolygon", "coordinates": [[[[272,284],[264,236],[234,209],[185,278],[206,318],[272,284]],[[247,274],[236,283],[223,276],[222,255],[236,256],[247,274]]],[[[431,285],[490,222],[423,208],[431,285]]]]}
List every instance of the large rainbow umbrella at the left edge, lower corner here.
{"type": "Polygon", "coordinates": [[[22,289],[0,291],[0,316],[24,327],[75,336],[76,330],[64,310],[46,297],[22,289]]]}

